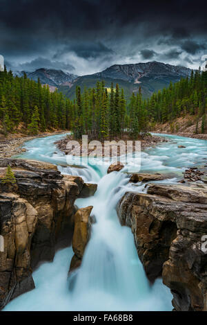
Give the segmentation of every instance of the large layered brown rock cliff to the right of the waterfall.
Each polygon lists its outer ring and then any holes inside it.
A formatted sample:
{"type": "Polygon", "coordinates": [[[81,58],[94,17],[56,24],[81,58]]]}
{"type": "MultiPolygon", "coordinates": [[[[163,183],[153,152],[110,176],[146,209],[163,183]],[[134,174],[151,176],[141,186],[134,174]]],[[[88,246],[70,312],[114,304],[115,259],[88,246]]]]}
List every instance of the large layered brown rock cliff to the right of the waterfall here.
{"type": "Polygon", "coordinates": [[[175,310],[207,310],[207,186],[150,184],[146,194],[126,193],[117,212],[148,279],[162,276],[175,310]]]}

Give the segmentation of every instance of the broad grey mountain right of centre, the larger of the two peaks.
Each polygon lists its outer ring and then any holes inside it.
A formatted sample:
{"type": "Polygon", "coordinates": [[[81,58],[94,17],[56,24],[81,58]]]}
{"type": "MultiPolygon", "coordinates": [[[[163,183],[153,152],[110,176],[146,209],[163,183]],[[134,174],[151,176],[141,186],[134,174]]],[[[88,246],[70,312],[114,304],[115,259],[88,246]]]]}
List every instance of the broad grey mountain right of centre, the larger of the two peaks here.
{"type": "Polygon", "coordinates": [[[154,91],[168,87],[170,81],[177,82],[182,77],[190,76],[191,69],[174,66],[162,62],[146,62],[137,64],[114,64],[107,69],[87,76],[81,76],[72,81],[70,87],[59,86],[59,91],[69,98],[75,97],[75,89],[81,87],[95,87],[98,80],[104,80],[106,87],[110,87],[111,82],[119,83],[124,89],[127,98],[132,92],[139,91],[141,87],[145,98],[150,97],[154,91]]]}

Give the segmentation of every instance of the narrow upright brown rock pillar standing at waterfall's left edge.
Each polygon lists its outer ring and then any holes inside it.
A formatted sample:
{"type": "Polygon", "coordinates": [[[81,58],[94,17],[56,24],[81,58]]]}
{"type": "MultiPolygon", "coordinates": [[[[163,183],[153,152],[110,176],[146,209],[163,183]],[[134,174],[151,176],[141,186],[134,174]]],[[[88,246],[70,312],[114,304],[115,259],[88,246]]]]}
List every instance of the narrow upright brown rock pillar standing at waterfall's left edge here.
{"type": "Polygon", "coordinates": [[[70,263],[70,272],[81,265],[83,254],[90,239],[92,206],[79,209],[75,213],[75,227],[72,236],[72,249],[75,253],[70,263]]]}

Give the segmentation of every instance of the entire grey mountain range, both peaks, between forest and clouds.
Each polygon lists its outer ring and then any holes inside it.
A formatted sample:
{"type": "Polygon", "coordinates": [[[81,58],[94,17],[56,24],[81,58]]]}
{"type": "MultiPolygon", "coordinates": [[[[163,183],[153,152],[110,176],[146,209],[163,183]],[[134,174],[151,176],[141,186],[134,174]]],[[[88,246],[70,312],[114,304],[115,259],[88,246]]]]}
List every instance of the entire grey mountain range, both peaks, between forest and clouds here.
{"type": "MultiPolygon", "coordinates": [[[[81,87],[95,87],[97,81],[104,80],[106,87],[114,85],[124,89],[126,98],[129,98],[134,91],[139,91],[141,87],[145,98],[149,97],[154,91],[168,87],[170,81],[177,82],[182,77],[190,76],[191,69],[186,67],[174,66],[162,62],[147,62],[137,64],[115,64],[97,73],[86,76],[76,76],[55,69],[37,69],[27,73],[28,78],[37,81],[40,78],[42,84],[50,86],[50,90],[62,91],[69,98],[75,98],[75,89],[81,87]]],[[[17,74],[17,73],[16,73],[17,74]]],[[[23,74],[18,73],[20,75],[23,74]]]]}

